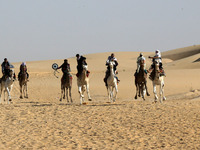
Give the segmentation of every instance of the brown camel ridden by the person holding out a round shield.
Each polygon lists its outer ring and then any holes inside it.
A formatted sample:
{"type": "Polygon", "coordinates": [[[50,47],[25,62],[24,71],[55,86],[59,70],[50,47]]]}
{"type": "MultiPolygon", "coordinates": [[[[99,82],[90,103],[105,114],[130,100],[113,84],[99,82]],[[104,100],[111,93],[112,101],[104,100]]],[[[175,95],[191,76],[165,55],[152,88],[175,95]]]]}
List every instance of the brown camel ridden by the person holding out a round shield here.
{"type": "Polygon", "coordinates": [[[67,97],[67,102],[69,102],[68,95],[70,96],[71,103],[72,101],[72,95],[71,95],[71,89],[72,89],[72,76],[69,72],[63,73],[63,76],[61,78],[61,97],[60,101],[62,99],[65,99],[65,90],[66,90],[66,97],[67,97]],[[68,94],[69,92],[69,94],[68,94]]]}

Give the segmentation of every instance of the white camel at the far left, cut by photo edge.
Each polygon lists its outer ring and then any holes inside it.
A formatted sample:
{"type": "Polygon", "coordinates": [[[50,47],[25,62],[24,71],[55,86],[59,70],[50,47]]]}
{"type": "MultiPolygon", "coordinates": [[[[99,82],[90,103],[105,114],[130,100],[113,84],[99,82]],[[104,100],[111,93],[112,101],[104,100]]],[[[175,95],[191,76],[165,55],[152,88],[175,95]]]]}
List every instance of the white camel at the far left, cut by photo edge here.
{"type": "Polygon", "coordinates": [[[7,94],[8,94],[8,104],[12,101],[11,100],[11,90],[12,90],[12,87],[13,87],[13,83],[14,83],[14,78],[13,78],[13,75],[14,75],[14,70],[11,69],[10,72],[10,77],[7,77],[6,80],[2,80],[0,81],[0,103],[1,103],[1,94],[2,94],[2,91],[4,90],[4,101],[5,101],[5,92],[7,91],[7,94]]]}

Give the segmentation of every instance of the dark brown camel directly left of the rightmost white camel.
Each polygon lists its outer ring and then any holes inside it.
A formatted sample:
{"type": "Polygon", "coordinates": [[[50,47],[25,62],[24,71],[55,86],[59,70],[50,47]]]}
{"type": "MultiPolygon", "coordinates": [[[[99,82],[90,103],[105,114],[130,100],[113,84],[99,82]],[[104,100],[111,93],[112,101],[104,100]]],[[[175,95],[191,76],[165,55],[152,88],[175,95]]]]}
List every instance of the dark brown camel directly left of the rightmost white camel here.
{"type": "Polygon", "coordinates": [[[145,95],[150,96],[147,89],[147,74],[144,70],[144,60],[140,61],[139,72],[135,73],[135,86],[136,86],[136,94],[135,99],[137,99],[137,95],[140,97],[142,95],[143,100],[145,100],[145,95]]]}

